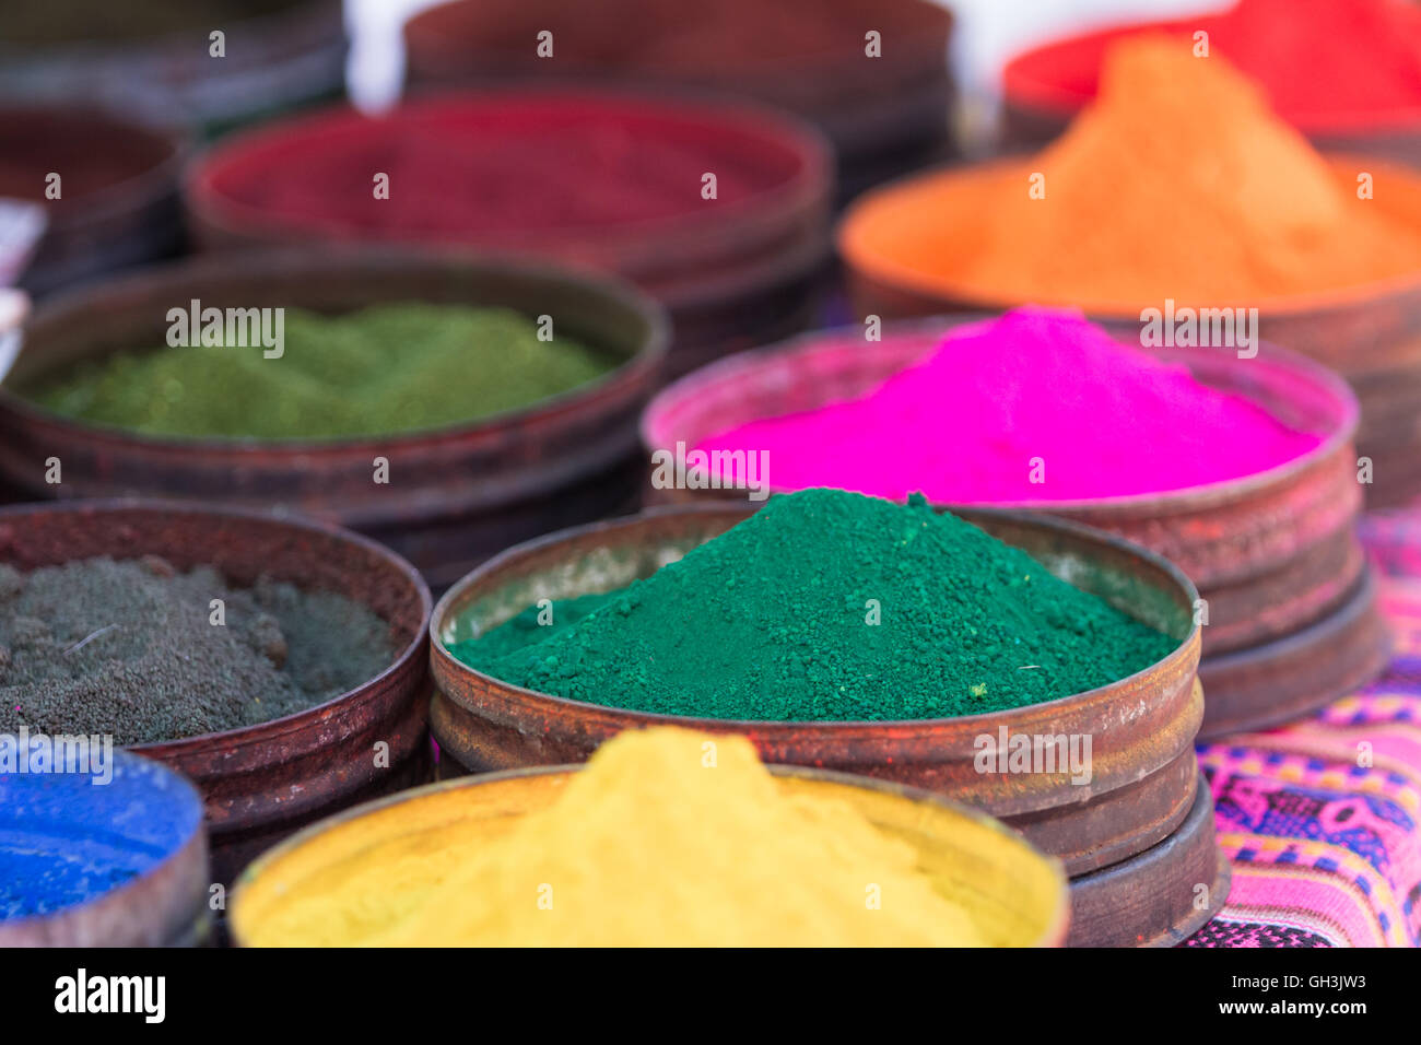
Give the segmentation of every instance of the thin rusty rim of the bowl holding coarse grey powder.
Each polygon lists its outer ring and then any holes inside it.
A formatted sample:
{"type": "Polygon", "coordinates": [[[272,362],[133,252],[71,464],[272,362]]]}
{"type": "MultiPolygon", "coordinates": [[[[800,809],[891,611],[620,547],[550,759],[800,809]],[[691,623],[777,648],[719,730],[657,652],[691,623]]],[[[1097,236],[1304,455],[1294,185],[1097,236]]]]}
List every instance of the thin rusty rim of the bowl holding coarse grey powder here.
{"type": "MultiPolygon", "coordinates": [[[[261,510],[254,508],[227,508],[225,505],[215,505],[203,500],[171,500],[161,498],[102,498],[3,505],[0,506],[0,526],[23,516],[57,515],[61,512],[94,516],[136,512],[163,516],[185,515],[220,518],[236,522],[260,523],[263,526],[274,525],[311,536],[318,536],[325,540],[338,540],[354,545],[362,549],[367,554],[384,560],[384,563],[394,570],[396,576],[401,576],[408,586],[406,596],[414,596],[414,606],[416,606],[419,613],[423,614],[422,620],[414,627],[409,641],[395,650],[389,664],[360,685],[340,692],[330,700],[301,708],[300,711],[293,711],[291,714],[281,715],[280,718],[271,718],[264,722],[254,722],[234,729],[219,729],[215,732],[195,734],[192,736],[176,736],[162,741],[146,741],[144,744],[119,745],[124,751],[131,751],[172,765],[172,759],[200,754],[212,749],[213,746],[220,746],[227,752],[236,752],[254,746],[269,746],[270,742],[277,738],[308,729],[311,725],[324,718],[325,712],[335,709],[338,705],[365,700],[372,694],[378,694],[384,688],[384,684],[389,680],[409,672],[411,665],[418,665],[418,658],[423,654],[423,644],[429,634],[429,614],[432,604],[429,586],[425,583],[425,579],[419,574],[419,572],[396,552],[385,547],[377,540],[371,540],[369,537],[355,533],[354,530],[291,512],[261,510]]],[[[135,557],[136,554],[138,553],[135,552],[135,557]]],[[[65,562],[74,560],[70,559],[65,562]]],[[[217,563],[210,564],[216,566],[219,570],[222,569],[217,563]]],[[[367,609],[369,607],[367,606],[367,609]]],[[[387,623],[389,621],[387,620],[387,623]]]]}

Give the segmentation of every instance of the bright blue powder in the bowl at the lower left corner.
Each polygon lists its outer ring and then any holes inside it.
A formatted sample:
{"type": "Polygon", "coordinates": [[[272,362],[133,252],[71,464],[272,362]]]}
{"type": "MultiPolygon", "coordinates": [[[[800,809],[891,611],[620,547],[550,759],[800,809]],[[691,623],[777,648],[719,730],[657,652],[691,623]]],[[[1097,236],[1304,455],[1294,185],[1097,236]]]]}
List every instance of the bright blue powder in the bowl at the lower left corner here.
{"type": "Polygon", "coordinates": [[[156,867],[202,823],[202,800],[172,771],[126,751],[114,779],[0,775],[0,921],[92,900],[156,867]]]}

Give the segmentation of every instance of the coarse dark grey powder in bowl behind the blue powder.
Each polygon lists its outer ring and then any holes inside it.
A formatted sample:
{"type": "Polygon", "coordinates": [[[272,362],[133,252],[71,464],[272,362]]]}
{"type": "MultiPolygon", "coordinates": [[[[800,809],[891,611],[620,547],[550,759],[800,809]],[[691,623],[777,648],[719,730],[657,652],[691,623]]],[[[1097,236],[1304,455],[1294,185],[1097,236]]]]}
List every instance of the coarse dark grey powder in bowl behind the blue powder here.
{"type": "Polygon", "coordinates": [[[330,591],[234,590],[153,556],[0,564],[0,732],[124,745],[234,729],[323,704],[392,660],[389,626],[330,591]]]}

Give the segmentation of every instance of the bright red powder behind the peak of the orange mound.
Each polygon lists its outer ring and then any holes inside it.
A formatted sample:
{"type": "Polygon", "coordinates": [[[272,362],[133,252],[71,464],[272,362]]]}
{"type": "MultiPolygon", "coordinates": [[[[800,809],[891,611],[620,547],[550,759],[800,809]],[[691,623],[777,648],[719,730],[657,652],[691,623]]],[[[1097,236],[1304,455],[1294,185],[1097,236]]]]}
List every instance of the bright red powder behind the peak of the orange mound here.
{"type": "Polygon", "coordinates": [[[1074,37],[1013,60],[1006,97],[1074,112],[1096,97],[1110,44],[1142,31],[1189,47],[1196,31],[1208,33],[1209,54],[1260,81],[1277,112],[1304,131],[1421,122],[1421,7],[1407,0],[1239,0],[1222,14],[1074,37]]]}

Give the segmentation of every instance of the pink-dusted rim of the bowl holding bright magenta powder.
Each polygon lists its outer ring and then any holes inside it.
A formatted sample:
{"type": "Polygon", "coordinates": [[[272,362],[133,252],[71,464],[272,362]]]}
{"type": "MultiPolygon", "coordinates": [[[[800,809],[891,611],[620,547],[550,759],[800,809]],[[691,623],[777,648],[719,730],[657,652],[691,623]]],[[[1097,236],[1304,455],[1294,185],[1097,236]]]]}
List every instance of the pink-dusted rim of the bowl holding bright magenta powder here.
{"type": "MultiPolygon", "coordinates": [[[[938,343],[941,343],[941,340],[949,333],[973,323],[998,318],[1000,314],[1002,313],[988,310],[951,310],[929,317],[890,320],[882,324],[881,340],[894,340],[895,336],[902,340],[935,337],[938,338],[938,343]]],[[[796,334],[794,337],[783,341],[726,355],[699,367],[675,381],[671,381],[659,388],[642,409],[641,421],[638,424],[642,448],[648,452],[671,449],[675,445],[675,441],[669,444],[666,441],[668,434],[665,432],[665,415],[674,408],[681,407],[684,402],[688,402],[696,395],[705,392],[708,388],[715,388],[737,380],[746,380],[750,375],[770,367],[793,365],[794,361],[806,360],[817,354],[843,351],[844,344],[850,340],[851,331],[854,330],[855,327],[850,324],[844,327],[796,334]]],[[[1108,330],[1106,333],[1110,334],[1108,330]]],[[[1118,341],[1120,338],[1114,340],[1118,341]]],[[[1135,347],[1130,345],[1128,341],[1120,343],[1125,347],[1135,347]]],[[[919,360],[935,351],[935,344],[926,344],[922,348],[919,360]]],[[[1340,375],[1316,360],[1272,341],[1260,341],[1258,348],[1258,361],[1272,364],[1275,371],[1306,380],[1312,384],[1314,391],[1329,397],[1340,414],[1340,419],[1336,425],[1330,427],[1330,431],[1326,432],[1324,438],[1316,446],[1297,455],[1296,458],[1283,461],[1282,463],[1262,472],[1253,472],[1233,479],[1216,479],[1214,482],[1198,483],[1194,486],[1178,486],[1168,491],[1148,491],[1144,493],[1125,493],[1110,498],[1067,498],[1059,500],[934,500],[932,505],[934,508],[946,508],[949,510],[955,508],[999,508],[1016,512],[1042,513],[1090,512],[1097,518],[1120,515],[1135,516],[1141,513],[1162,516],[1175,515],[1184,510],[1198,510],[1282,486],[1302,472],[1317,466],[1323,461],[1330,459],[1334,454],[1339,454],[1343,448],[1351,445],[1356,439],[1357,428],[1361,421],[1361,407],[1351,387],[1340,375]]],[[[1160,350],[1138,347],[1138,351],[1147,353],[1152,358],[1184,363],[1191,367],[1191,373],[1192,364],[1195,363],[1218,361],[1222,367],[1222,364],[1229,358],[1222,354],[1222,350],[1199,347],[1160,350]]],[[[1249,360],[1249,363],[1253,363],[1253,360],[1249,360]]],[[[902,373],[902,370],[908,365],[912,364],[905,364],[904,368],[895,373],[902,373]]],[[[1236,395],[1248,398],[1255,405],[1263,407],[1263,409],[1273,417],[1273,412],[1268,409],[1265,404],[1259,402],[1252,394],[1238,390],[1231,391],[1236,395]]],[[[769,419],[769,417],[786,415],[767,415],[753,419],[769,419]]],[[[791,493],[793,491],[772,489],[770,492],[791,493]]]]}

